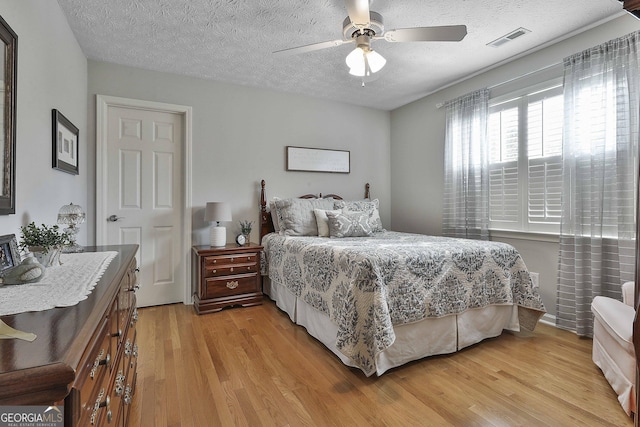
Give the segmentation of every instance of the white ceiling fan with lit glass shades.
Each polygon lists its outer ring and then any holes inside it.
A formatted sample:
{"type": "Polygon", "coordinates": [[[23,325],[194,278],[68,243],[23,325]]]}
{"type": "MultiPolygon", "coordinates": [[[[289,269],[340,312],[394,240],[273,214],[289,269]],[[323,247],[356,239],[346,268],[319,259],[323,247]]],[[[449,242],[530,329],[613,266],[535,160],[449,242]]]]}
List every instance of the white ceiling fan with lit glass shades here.
{"type": "Polygon", "coordinates": [[[380,71],[387,62],[382,55],[371,49],[372,40],[385,40],[392,43],[457,42],[467,35],[466,25],[400,28],[385,31],[382,15],[369,10],[369,0],[345,0],[345,6],[348,16],[342,23],[342,39],[282,49],[273,53],[281,56],[296,55],[354,42],[356,48],[345,59],[349,66],[349,74],[368,77],[380,71]]]}

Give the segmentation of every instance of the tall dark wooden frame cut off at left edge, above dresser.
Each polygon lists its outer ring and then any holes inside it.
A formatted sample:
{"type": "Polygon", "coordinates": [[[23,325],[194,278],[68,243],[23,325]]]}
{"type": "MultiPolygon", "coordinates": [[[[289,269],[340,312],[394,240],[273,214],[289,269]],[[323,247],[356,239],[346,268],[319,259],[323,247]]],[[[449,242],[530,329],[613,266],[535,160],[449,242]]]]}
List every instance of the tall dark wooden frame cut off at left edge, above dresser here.
{"type": "Polygon", "coordinates": [[[4,80],[0,95],[0,215],[16,213],[16,76],[18,75],[18,36],[0,16],[0,71],[4,80]]]}

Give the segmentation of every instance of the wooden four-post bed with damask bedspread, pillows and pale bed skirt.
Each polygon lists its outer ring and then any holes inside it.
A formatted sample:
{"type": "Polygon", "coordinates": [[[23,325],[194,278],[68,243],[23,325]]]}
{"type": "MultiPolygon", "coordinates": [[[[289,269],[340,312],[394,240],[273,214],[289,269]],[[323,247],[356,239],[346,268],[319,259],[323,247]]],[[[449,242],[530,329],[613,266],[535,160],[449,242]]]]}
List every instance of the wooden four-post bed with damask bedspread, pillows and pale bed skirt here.
{"type": "Polygon", "coordinates": [[[369,191],[267,203],[262,181],[263,291],[294,323],[367,376],[533,331],[545,308],[515,248],[384,230],[369,191]]]}

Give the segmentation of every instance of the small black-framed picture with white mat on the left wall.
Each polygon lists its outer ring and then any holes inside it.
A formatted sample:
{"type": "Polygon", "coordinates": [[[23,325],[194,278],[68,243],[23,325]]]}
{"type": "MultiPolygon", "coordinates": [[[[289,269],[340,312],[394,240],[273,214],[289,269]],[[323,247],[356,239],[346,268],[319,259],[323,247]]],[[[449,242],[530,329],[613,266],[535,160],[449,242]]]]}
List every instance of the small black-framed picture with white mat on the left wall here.
{"type": "Polygon", "coordinates": [[[53,109],[53,168],[78,175],[78,128],[53,109]]]}

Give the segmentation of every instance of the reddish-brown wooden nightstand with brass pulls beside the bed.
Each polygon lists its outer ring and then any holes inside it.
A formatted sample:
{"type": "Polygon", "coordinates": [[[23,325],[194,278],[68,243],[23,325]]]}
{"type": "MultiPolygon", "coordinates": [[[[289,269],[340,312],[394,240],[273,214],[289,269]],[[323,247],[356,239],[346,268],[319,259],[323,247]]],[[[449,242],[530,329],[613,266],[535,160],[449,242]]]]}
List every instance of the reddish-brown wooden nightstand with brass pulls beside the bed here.
{"type": "Polygon", "coordinates": [[[204,314],[230,306],[262,304],[261,251],[262,246],[255,243],[194,246],[191,280],[196,312],[204,314]]]}

